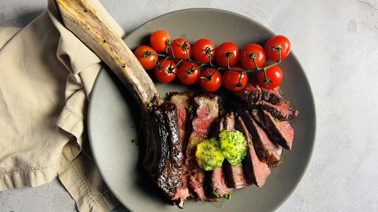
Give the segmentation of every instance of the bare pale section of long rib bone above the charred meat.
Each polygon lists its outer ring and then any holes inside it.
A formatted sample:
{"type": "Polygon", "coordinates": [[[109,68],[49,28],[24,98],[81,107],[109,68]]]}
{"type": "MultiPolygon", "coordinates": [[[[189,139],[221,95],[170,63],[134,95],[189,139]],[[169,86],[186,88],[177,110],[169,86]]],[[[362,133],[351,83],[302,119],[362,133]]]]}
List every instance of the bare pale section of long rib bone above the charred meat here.
{"type": "Polygon", "coordinates": [[[87,1],[56,0],[56,3],[64,26],[109,66],[142,110],[148,110],[149,103],[163,102],[133,52],[87,1]]]}

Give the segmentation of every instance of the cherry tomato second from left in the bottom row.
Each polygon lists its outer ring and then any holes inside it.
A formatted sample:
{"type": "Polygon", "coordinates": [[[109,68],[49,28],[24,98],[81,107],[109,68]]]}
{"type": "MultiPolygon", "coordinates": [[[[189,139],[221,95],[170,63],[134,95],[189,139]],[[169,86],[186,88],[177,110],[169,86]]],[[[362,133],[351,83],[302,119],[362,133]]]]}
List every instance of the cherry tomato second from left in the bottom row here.
{"type": "Polygon", "coordinates": [[[173,68],[176,63],[166,59],[158,61],[158,64],[159,66],[154,69],[157,80],[163,83],[172,82],[177,74],[177,68],[173,68]]]}

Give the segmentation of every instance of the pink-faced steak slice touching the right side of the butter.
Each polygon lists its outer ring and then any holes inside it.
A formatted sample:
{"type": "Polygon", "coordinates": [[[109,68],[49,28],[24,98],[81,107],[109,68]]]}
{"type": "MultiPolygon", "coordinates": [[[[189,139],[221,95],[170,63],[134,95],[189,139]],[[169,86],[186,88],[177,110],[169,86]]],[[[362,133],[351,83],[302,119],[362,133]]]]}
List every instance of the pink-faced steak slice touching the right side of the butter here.
{"type": "Polygon", "coordinates": [[[270,168],[258,158],[253,148],[252,136],[240,116],[236,118],[235,129],[243,133],[247,139],[247,154],[242,161],[246,179],[261,188],[270,174],[270,168]]]}

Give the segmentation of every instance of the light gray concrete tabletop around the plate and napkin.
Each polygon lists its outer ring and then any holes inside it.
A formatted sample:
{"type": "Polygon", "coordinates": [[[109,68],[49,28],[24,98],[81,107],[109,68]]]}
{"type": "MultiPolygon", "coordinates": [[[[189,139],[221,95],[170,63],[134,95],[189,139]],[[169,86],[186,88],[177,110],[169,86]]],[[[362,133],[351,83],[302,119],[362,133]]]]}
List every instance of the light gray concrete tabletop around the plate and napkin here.
{"type": "MultiPolygon", "coordinates": [[[[317,134],[306,174],[277,212],[378,212],[377,0],[101,2],[126,32],[171,11],[211,7],[246,15],[289,37],[313,89],[317,134]]],[[[0,0],[0,26],[23,27],[46,6],[45,0],[0,0]]],[[[55,179],[0,192],[0,211],[77,209],[55,179]]]]}

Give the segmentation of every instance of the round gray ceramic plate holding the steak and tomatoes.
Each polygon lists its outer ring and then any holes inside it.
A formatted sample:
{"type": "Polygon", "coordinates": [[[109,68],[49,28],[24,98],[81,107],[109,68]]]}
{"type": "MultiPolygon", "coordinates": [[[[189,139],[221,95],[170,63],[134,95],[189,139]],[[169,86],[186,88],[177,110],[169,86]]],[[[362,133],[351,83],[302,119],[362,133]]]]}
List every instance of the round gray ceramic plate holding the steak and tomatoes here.
{"type": "MultiPolygon", "coordinates": [[[[190,43],[200,38],[211,39],[215,45],[226,41],[244,46],[261,45],[273,33],[261,24],[235,13],[215,9],[188,9],[159,16],[126,36],[125,42],[135,49],[148,44],[155,30],[166,30],[174,38],[190,43]]],[[[281,63],[285,97],[299,109],[292,121],[295,139],[292,151],[284,151],[280,167],[272,170],[262,189],[248,186],[235,190],[231,200],[220,202],[186,201],[187,211],[273,211],[293,192],[309,163],[315,138],[315,108],[307,78],[299,61],[291,52],[281,63]]],[[[195,90],[179,83],[156,83],[165,96],[167,91],[195,90]]],[[[223,95],[225,91],[220,91],[223,95]]],[[[118,199],[131,211],[179,211],[171,206],[141,166],[143,148],[131,143],[140,138],[139,111],[135,101],[120,81],[103,68],[97,76],[89,104],[88,132],[97,166],[118,199]],[[133,128],[132,126],[136,126],[133,128]]]]}

